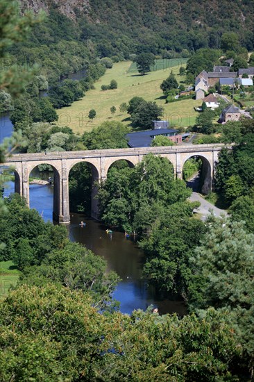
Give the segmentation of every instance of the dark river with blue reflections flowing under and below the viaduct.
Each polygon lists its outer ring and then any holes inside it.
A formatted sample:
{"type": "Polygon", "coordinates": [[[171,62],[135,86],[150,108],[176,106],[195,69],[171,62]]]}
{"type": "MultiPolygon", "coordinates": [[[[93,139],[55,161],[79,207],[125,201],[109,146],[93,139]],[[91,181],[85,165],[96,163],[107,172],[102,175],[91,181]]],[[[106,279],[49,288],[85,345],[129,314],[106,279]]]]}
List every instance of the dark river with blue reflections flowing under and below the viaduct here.
{"type": "MultiPolygon", "coordinates": [[[[8,182],[4,195],[14,192],[14,183],[8,182]]],[[[52,221],[53,187],[51,185],[30,185],[31,208],[35,208],[45,221],[52,221]]],[[[160,314],[186,313],[183,301],[164,299],[156,294],[154,288],[147,288],[147,281],[142,279],[144,252],[124,233],[113,232],[108,235],[107,227],[84,215],[71,213],[68,225],[69,238],[85,244],[94,254],[107,260],[108,269],[117,272],[121,282],[117,285],[113,297],[120,302],[122,313],[132,313],[135,309],[146,310],[151,304],[159,308],[160,314]],[[80,222],[86,223],[84,228],[80,222]]]]}

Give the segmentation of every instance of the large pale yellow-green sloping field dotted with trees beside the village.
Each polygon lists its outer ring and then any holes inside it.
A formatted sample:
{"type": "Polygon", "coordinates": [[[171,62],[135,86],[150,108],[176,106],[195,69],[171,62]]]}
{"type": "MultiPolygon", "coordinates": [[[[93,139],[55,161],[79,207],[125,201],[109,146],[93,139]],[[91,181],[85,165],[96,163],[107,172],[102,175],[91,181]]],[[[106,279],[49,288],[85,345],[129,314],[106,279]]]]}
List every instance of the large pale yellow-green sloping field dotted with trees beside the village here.
{"type": "MultiPolygon", "coordinates": [[[[160,64],[160,60],[158,61],[160,64]]],[[[171,60],[171,64],[176,64],[175,61],[171,60]]],[[[68,108],[58,110],[59,124],[71,127],[75,133],[91,131],[92,128],[99,126],[102,122],[110,120],[129,125],[129,115],[120,113],[119,105],[123,102],[127,103],[135,96],[143,97],[146,101],[155,101],[158,105],[163,106],[164,116],[162,118],[169,120],[171,124],[183,127],[194,124],[197,115],[194,106],[200,106],[201,101],[186,99],[174,103],[165,103],[160,89],[160,84],[169,76],[171,70],[176,74],[178,83],[184,80],[183,76],[178,75],[179,67],[185,66],[182,61],[171,68],[165,67],[144,76],[140,76],[137,72],[129,72],[132,70],[131,65],[133,65],[131,61],[125,61],[116,63],[112,69],[107,69],[105,75],[94,84],[94,90],[89,90],[83,99],[72,103],[68,108]],[[101,85],[108,85],[112,79],[117,81],[118,88],[102,91],[101,85]],[[110,112],[111,106],[117,108],[115,115],[110,112]],[[96,118],[90,121],[87,115],[92,108],[96,110],[96,118]]],[[[169,64],[167,63],[167,65],[169,64]]]]}

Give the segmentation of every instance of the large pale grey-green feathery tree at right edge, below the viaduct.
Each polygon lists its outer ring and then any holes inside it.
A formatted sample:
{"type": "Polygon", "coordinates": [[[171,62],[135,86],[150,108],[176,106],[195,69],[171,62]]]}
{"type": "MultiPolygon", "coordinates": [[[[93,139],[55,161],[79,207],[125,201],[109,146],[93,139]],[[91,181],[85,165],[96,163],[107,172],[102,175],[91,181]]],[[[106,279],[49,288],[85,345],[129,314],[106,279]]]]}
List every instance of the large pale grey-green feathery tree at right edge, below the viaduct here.
{"type": "MultiPolygon", "coordinates": [[[[227,315],[232,331],[243,347],[248,367],[254,367],[254,235],[243,222],[214,219],[193,258],[196,274],[203,278],[201,307],[214,306],[227,315]]],[[[198,295],[198,294],[197,294],[198,295]]]]}

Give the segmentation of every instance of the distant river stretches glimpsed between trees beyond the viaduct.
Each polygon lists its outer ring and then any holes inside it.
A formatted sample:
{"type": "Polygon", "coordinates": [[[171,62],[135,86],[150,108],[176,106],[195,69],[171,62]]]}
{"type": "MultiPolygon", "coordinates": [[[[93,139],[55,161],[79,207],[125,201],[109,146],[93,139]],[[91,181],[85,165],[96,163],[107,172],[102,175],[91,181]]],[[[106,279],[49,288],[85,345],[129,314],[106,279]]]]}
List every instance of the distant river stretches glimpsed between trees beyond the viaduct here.
{"type": "MultiPolygon", "coordinates": [[[[61,78],[58,82],[69,78],[71,80],[81,80],[85,78],[86,69],[78,70],[76,73],[70,73],[67,76],[61,78]]],[[[41,90],[39,92],[39,97],[47,97],[46,90],[41,90]]],[[[12,122],[10,121],[9,113],[0,113],[0,143],[3,142],[4,138],[10,137],[12,135],[12,122]]]]}

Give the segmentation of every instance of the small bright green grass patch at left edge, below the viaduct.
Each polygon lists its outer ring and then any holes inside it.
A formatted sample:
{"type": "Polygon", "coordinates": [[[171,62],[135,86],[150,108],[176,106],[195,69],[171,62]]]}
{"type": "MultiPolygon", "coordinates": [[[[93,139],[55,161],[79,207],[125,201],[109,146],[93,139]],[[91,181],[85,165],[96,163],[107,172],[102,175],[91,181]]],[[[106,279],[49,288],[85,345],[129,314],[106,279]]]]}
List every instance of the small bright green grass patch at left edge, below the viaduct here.
{"type": "Polygon", "coordinates": [[[12,261],[0,262],[0,299],[8,294],[11,285],[15,285],[19,279],[19,271],[12,261]]]}

